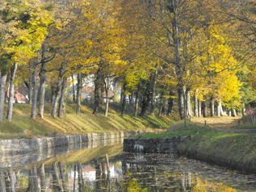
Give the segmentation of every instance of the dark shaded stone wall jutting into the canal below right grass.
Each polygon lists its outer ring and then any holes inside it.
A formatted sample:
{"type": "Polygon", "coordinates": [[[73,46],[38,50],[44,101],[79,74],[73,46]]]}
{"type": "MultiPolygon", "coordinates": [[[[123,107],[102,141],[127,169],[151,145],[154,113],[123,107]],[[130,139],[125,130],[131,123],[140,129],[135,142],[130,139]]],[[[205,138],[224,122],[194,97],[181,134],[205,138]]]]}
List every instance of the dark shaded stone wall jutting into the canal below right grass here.
{"type": "Polygon", "coordinates": [[[176,152],[177,145],[188,139],[190,139],[190,136],[175,136],[161,139],[125,139],[124,152],[176,152]]]}

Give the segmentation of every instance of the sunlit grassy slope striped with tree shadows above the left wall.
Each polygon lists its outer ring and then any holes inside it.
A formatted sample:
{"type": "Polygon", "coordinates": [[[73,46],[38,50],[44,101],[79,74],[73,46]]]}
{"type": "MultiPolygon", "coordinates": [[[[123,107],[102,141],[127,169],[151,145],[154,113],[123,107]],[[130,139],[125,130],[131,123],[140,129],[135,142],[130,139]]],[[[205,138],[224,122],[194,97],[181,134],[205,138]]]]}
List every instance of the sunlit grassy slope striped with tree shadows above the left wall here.
{"type": "Polygon", "coordinates": [[[70,135],[88,132],[133,131],[133,130],[162,130],[169,128],[174,121],[166,116],[135,117],[133,115],[120,116],[115,106],[105,117],[101,111],[99,115],[92,115],[90,106],[82,106],[81,115],[75,114],[75,105],[67,105],[65,118],[51,117],[52,106],[45,105],[44,119],[30,118],[31,106],[15,104],[12,122],[0,123],[0,139],[31,138],[37,136],[70,135]]]}

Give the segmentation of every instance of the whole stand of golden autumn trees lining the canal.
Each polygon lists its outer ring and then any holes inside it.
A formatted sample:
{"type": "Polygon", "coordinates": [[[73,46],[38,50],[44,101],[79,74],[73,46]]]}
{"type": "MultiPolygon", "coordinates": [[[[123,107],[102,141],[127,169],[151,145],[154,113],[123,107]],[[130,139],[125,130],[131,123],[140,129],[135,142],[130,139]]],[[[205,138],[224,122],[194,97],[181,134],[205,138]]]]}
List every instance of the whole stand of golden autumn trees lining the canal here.
{"type": "MultiPolygon", "coordinates": [[[[248,1],[95,0],[0,2],[0,121],[15,86],[29,90],[31,118],[63,116],[65,92],[76,81],[77,114],[83,79],[94,77],[94,115],[111,81],[122,86],[134,115],[161,115],[174,101],[179,116],[223,115],[254,100],[255,5],[248,1]],[[7,91],[6,91],[7,90],[7,91]],[[191,99],[191,98],[194,99],[191,99]],[[193,103],[193,113],[192,104],[193,103]],[[210,104],[210,105],[209,105],[210,104]],[[140,106],[140,107],[139,107],[140,106]]],[[[74,95],[74,94],[73,94],[74,95]]]]}

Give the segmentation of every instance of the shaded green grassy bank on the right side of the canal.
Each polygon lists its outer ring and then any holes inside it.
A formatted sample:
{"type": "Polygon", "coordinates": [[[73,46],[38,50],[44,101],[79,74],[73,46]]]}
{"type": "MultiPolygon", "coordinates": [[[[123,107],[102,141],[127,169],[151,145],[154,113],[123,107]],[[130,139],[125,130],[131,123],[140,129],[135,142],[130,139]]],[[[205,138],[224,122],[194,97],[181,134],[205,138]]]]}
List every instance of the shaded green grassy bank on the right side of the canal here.
{"type": "Polygon", "coordinates": [[[255,133],[234,133],[232,129],[228,132],[216,131],[194,123],[189,123],[185,129],[183,123],[177,123],[170,131],[137,137],[164,138],[184,135],[190,135],[191,140],[178,145],[181,154],[217,165],[256,173],[255,133]]]}

